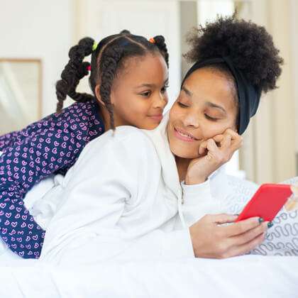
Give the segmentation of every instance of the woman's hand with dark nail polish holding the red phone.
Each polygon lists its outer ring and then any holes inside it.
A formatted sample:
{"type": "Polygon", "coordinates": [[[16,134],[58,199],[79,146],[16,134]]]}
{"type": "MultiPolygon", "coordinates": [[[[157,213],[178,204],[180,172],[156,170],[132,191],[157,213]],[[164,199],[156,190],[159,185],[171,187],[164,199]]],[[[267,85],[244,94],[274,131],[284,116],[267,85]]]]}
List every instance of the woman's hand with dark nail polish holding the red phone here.
{"type": "Polygon", "coordinates": [[[194,255],[197,258],[231,258],[243,255],[262,243],[268,221],[252,217],[233,223],[237,216],[206,215],[190,228],[194,255]],[[233,223],[231,225],[221,225],[233,223]]]}

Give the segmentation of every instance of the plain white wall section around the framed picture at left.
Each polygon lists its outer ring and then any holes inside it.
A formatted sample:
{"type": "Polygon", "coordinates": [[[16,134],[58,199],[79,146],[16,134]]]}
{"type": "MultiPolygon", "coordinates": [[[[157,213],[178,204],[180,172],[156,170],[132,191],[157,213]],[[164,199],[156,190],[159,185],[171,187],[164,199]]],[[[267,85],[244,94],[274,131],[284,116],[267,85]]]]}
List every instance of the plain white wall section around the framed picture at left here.
{"type": "Polygon", "coordinates": [[[43,115],[55,111],[55,82],[72,44],[73,1],[0,0],[0,57],[43,62],[43,115]]]}

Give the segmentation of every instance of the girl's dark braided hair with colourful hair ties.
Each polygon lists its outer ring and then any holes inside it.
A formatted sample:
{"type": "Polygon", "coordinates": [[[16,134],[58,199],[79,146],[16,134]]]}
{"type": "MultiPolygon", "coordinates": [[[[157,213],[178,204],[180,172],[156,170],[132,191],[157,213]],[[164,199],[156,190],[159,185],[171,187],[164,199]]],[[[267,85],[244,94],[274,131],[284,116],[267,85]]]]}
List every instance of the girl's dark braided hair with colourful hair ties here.
{"type": "Polygon", "coordinates": [[[79,80],[89,74],[88,68],[91,66],[89,83],[93,94],[95,94],[96,85],[100,84],[100,96],[110,115],[110,125],[114,129],[113,106],[111,105],[110,94],[111,87],[118,72],[124,66],[124,62],[131,57],[144,56],[148,53],[160,53],[165,58],[167,67],[169,67],[169,55],[165,38],[157,35],[152,42],[143,36],[133,35],[124,30],[119,34],[110,35],[92,50],[94,40],[92,38],[82,38],[79,43],[70,48],[70,60],[65,65],[61,74],[61,79],[56,84],[57,94],[57,113],[62,111],[63,101],[66,96],[78,102],[94,100],[92,94],[78,93],[76,91],[79,80]],[[84,57],[92,54],[91,64],[83,62],[84,57]]]}

